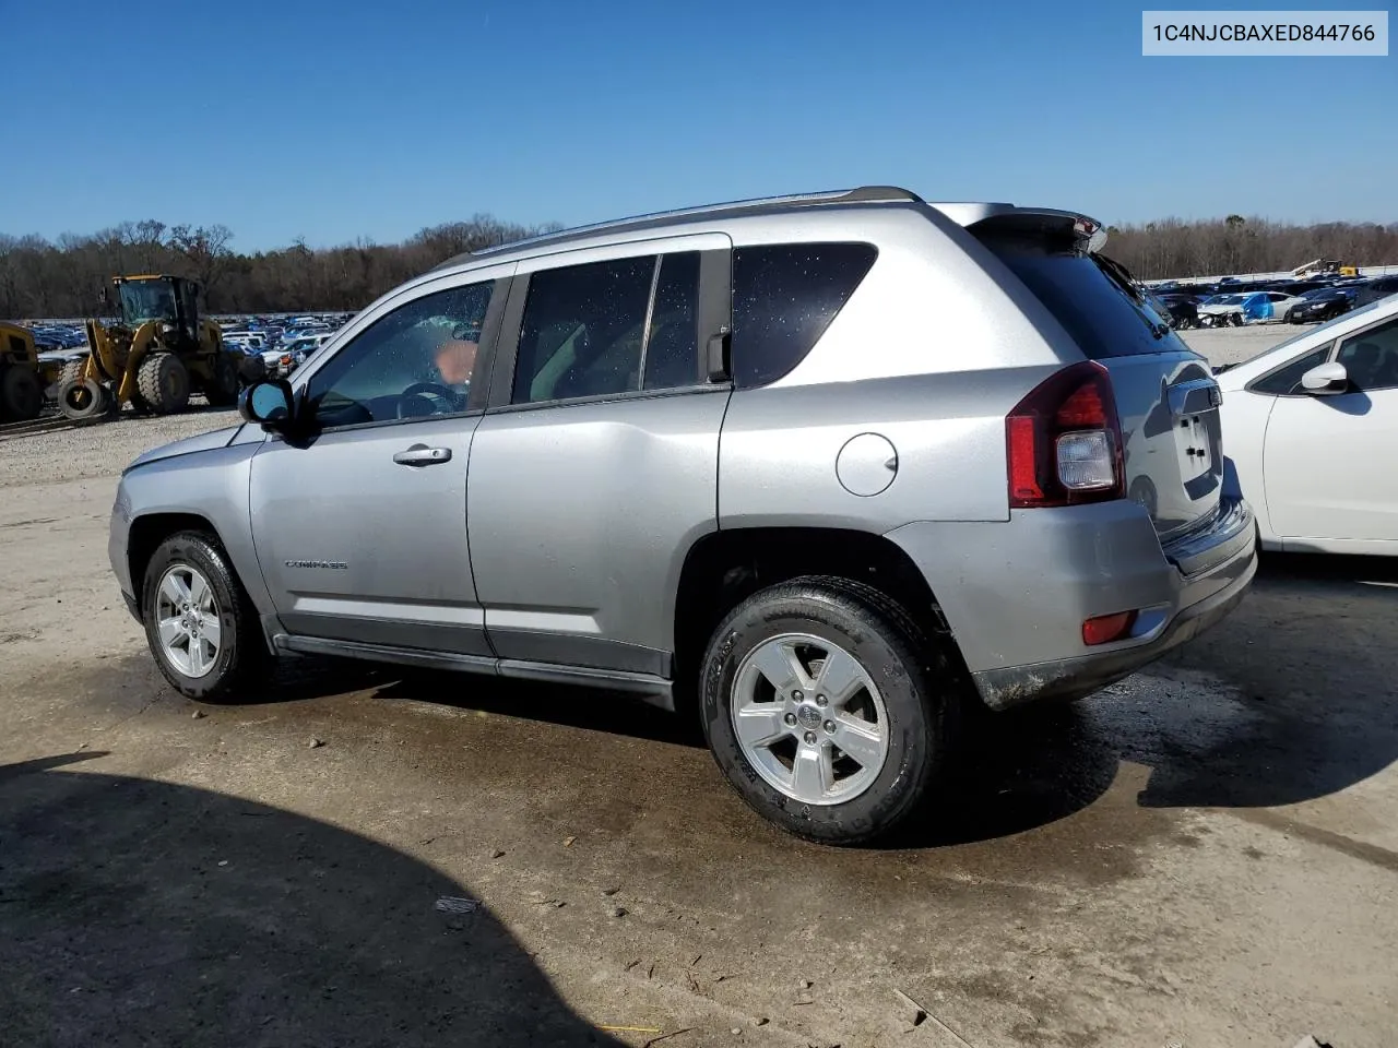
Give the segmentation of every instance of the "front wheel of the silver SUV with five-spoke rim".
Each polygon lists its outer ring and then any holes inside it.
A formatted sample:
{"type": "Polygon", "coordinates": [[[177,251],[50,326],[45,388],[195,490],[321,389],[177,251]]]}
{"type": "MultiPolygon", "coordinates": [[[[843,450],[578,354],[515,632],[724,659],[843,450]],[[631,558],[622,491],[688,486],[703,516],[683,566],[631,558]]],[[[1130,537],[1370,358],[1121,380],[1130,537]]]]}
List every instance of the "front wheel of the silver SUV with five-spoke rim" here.
{"type": "Polygon", "coordinates": [[[141,580],[141,619],[155,664],[187,699],[236,701],[271,662],[257,611],[218,539],[207,532],[180,531],[159,545],[141,580]],[[194,576],[201,585],[193,583],[194,576]],[[194,605],[187,611],[175,599],[179,583],[194,605]],[[187,618],[193,612],[200,613],[197,619],[187,618]],[[171,626],[172,620],[179,626],[171,626]],[[172,637],[169,646],[165,637],[172,637]]]}

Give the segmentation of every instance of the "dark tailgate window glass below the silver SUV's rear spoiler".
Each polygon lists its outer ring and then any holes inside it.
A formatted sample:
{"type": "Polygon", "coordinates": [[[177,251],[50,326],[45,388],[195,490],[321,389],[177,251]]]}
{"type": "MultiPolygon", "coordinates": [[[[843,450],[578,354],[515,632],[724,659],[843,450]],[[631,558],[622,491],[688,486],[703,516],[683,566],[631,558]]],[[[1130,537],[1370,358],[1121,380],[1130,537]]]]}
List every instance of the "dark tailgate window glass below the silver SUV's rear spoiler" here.
{"type": "Polygon", "coordinates": [[[1132,298],[1090,256],[1060,246],[1058,239],[995,235],[980,239],[1093,361],[1190,351],[1170,330],[1167,317],[1146,299],[1132,298]]]}

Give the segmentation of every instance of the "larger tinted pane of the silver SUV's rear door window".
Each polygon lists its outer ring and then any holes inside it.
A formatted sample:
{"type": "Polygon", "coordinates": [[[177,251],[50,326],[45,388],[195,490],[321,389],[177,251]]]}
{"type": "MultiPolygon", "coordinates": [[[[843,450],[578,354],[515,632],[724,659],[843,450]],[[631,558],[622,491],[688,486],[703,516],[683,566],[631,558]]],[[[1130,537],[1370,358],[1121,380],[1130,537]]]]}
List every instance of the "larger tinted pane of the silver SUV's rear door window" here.
{"type": "Polygon", "coordinates": [[[639,390],[654,274],[656,256],[533,274],[512,401],[639,390]]]}

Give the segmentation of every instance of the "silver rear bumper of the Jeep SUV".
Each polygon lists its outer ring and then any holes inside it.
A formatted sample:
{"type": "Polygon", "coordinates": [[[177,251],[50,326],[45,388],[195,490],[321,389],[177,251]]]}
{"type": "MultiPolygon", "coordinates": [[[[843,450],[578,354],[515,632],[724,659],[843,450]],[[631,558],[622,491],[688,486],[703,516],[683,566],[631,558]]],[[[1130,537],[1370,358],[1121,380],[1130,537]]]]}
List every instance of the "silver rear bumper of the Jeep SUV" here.
{"type": "Polygon", "coordinates": [[[1257,572],[1253,511],[1160,546],[1130,502],[1025,510],[1008,523],[889,532],[923,569],[987,706],[1089,694],[1223,619],[1257,572]],[[958,545],[959,544],[959,545],[958,545]],[[1137,611],[1131,636],[1089,647],[1082,623],[1137,611]]]}

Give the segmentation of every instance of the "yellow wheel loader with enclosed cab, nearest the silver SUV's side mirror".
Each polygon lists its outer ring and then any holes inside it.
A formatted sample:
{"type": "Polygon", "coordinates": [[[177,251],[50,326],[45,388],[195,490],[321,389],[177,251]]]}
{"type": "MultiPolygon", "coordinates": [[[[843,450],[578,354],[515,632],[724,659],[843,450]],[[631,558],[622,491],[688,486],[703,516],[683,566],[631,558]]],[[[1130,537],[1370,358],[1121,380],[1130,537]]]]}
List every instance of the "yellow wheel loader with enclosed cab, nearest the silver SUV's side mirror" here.
{"type": "Polygon", "coordinates": [[[59,408],[69,418],[116,414],[130,404],[141,414],[185,411],[190,393],[214,407],[238,401],[240,354],[224,345],[212,320],[200,319],[200,285],[183,277],[116,277],[116,300],[102,303],[120,316],[112,327],[87,321],[88,358],[74,361],[59,379],[59,408]]]}

